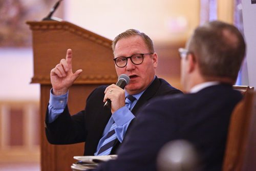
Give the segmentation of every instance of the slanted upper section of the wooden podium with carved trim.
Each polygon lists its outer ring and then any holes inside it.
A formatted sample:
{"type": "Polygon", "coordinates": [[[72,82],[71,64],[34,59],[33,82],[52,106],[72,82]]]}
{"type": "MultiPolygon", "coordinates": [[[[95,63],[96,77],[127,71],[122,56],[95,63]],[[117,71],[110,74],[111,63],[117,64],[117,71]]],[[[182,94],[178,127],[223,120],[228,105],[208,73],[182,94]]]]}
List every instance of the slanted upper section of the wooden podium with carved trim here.
{"type": "Polygon", "coordinates": [[[49,73],[67,49],[73,50],[73,71],[83,72],[75,83],[112,83],[117,80],[112,40],[69,22],[27,22],[33,35],[33,83],[49,84],[49,73]]]}

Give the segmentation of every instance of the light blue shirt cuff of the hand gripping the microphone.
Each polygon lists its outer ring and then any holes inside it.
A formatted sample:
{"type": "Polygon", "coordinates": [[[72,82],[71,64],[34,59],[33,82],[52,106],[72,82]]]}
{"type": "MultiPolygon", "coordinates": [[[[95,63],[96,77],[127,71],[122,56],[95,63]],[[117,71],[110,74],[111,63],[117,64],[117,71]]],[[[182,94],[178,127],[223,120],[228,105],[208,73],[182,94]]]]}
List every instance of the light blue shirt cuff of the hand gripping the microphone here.
{"type": "Polygon", "coordinates": [[[117,126],[122,126],[125,123],[129,122],[135,116],[133,113],[126,107],[123,106],[122,108],[118,109],[113,115],[112,115],[114,121],[116,122],[117,126]]]}

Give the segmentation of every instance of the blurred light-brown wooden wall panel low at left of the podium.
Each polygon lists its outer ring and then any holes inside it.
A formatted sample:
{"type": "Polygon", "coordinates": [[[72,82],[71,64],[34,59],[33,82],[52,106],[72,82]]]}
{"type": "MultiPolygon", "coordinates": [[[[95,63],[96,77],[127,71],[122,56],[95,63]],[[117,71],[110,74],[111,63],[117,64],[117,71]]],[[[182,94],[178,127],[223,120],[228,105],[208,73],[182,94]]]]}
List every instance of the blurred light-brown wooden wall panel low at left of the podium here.
{"type": "Polygon", "coordinates": [[[0,101],[0,163],[39,162],[38,101],[0,101]]]}

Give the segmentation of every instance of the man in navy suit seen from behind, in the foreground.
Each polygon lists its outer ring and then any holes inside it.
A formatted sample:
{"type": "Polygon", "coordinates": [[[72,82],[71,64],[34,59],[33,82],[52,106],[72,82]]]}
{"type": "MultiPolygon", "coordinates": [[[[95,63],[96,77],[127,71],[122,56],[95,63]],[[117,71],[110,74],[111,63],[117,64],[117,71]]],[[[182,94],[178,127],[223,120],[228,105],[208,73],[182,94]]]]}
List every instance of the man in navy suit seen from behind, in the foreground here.
{"type": "Polygon", "coordinates": [[[157,170],[159,150],[177,139],[188,141],[198,153],[199,165],[192,170],[221,170],[230,114],[242,99],[232,84],[245,55],[245,41],[236,27],[214,21],[198,27],[179,52],[187,94],[145,105],[118,158],[95,170],[157,170]]]}

